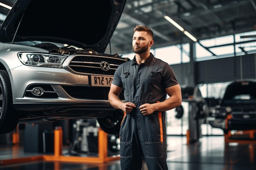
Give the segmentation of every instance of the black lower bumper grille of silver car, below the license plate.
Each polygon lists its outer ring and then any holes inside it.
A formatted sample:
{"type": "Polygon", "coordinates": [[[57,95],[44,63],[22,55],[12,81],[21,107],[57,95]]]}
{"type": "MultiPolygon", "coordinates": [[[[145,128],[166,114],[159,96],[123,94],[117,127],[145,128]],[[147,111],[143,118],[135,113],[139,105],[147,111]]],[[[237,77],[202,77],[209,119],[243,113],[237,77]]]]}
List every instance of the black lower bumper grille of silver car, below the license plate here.
{"type": "MultiPolygon", "coordinates": [[[[108,100],[108,87],[88,87],[88,86],[62,86],[68,95],[77,99],[108,100]]],[[[119,98],[124,100],[122,90],[119,98]]]]}

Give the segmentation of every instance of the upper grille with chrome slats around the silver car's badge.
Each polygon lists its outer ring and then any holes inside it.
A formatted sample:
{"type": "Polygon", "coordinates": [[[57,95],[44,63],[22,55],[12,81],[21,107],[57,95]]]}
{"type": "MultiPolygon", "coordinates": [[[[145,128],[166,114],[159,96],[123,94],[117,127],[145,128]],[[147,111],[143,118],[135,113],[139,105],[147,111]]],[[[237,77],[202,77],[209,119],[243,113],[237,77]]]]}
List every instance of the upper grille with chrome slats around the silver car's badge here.
{"type": "Polygon", "coordinates": [[[72,59],[69,66],[77,73],[114,75],[117,67],[124,62],[126,62],[126,60],[122,58],[78,55],[72,59]],[[100,63],[103,61],[110,64],[109,70],[104,71],[101,69],[100,63]]]}

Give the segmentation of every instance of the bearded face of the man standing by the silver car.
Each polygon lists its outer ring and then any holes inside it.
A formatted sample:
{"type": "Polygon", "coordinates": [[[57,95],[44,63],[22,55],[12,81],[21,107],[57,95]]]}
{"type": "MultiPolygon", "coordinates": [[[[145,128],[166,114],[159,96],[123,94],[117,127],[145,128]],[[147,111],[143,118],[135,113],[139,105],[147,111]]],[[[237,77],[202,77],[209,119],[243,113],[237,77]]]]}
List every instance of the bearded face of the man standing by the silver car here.
{"type": "Polygon", "coordinates": [[[134,53],[141,54],[150,50],[153,40],[146,31],[135,31],[132,37],[132,50],[134,53]]]}

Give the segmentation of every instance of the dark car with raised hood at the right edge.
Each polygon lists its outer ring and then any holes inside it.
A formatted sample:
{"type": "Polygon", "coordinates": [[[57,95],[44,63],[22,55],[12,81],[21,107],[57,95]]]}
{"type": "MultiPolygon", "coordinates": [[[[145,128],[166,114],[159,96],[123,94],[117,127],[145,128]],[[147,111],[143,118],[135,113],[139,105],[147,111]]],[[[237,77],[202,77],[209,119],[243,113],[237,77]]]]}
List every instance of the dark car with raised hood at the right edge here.
{"type": "Polygon", "coordinates": [[[214,128],[229,130],[256,129],[256,81],[236,81],[226,88],[224,97],[208,118],[214,128]]]}

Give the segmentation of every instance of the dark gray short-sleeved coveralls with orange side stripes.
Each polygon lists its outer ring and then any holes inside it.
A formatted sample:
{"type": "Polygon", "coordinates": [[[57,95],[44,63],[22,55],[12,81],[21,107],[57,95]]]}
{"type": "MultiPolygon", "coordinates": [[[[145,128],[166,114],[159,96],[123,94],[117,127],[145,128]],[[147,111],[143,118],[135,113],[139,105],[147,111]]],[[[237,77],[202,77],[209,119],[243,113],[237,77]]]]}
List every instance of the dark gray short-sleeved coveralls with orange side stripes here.
{"type": "Polygon", "coordinates": [[[121,169],[141,170],[144,154],[148,170],[167,170],[165,112],[144,116],[139,106],[166,99],[165,88],[178,84],[173,69],[150,53],[140,65],[135,58],[121,64],[112,84],[123,87],[126,102],[137,106],[131,113],[124,113],[121,124],[121,169]]]}

